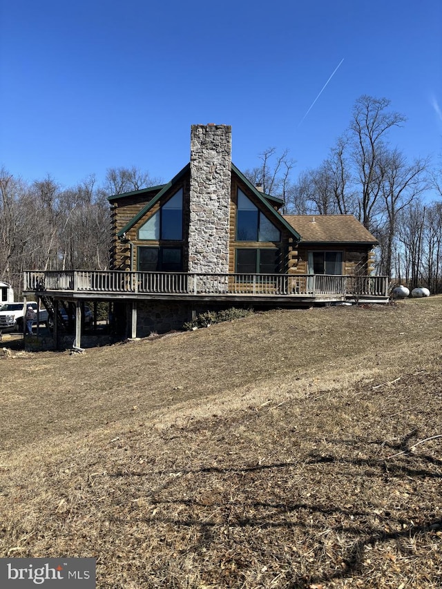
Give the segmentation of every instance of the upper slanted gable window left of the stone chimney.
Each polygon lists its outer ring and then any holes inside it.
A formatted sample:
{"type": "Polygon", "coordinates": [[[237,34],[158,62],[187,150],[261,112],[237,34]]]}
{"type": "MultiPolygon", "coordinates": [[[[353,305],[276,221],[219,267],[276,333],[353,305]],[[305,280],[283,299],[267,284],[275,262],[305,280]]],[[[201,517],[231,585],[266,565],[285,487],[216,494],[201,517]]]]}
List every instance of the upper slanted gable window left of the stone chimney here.
{"type": "Polygon", "coordinates": [[[140,227],[139,240],[182,240],[182,195],[180,189],[140,227]]]}

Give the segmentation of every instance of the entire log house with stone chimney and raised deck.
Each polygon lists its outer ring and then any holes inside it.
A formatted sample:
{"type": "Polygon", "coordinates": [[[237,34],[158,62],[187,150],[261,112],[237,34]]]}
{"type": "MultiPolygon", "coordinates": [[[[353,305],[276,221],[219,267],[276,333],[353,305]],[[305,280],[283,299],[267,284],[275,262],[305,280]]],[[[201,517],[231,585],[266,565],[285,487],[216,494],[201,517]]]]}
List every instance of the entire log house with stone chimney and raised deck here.
{"type": "Polygon", "coordinates": [[[78,347],[85,301],[107,301],[115,332],[130,338],[208,309],[387,301],[376,238],[352,215],[282,215],[282,201],[231,162],[230,126],[191,126],[190,162],[170,182],[109,202],[111,270],[24,274],[55,318],[72,305],[78,347]]]}

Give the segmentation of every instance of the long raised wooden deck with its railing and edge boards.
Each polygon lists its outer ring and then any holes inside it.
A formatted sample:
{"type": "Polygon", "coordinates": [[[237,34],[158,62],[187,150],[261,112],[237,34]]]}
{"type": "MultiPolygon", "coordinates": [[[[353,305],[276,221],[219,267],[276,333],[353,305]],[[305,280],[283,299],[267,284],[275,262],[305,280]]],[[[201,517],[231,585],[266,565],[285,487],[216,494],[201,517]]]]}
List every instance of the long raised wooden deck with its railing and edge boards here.
{"type": "Polygon", "coordinates": [[[387,302],[387,276],[25,271],[23,291],[59,300],[217,300],[296,303],[387,302]]]}

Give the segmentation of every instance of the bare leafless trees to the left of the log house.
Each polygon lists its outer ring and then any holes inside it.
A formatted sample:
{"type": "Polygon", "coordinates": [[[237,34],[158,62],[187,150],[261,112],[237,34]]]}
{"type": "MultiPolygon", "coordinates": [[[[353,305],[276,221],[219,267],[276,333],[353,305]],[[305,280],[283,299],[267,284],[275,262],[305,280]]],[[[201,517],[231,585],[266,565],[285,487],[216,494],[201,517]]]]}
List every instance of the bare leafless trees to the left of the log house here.
{"type": "Polygon", "coordinates": [[[25,182],[0,169],[0,280],[23,289],[23,270],[106,270],[111,219],[108,196],[157,184],[137,168],[109,168],[68,189],[52,177],[25,182]]]}

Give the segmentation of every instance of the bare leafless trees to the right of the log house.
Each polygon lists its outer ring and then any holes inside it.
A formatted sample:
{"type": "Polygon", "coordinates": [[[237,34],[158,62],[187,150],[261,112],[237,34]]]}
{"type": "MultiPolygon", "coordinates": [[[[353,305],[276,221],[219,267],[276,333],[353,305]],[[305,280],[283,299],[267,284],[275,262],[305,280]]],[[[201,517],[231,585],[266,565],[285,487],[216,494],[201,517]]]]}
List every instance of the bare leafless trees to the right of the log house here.
{"type": "Polygon", "coordinates": [[[280,196],[284,213],[354,215],[379,241],[377,273],[442,292],[442,166],[432,167],[429,157],[410,161],[390,145],[391,132],[405,122],[389,100],[363,95],[317,168],[294,181],[288,151],[268,148],[245,175],[280,196]]]}

